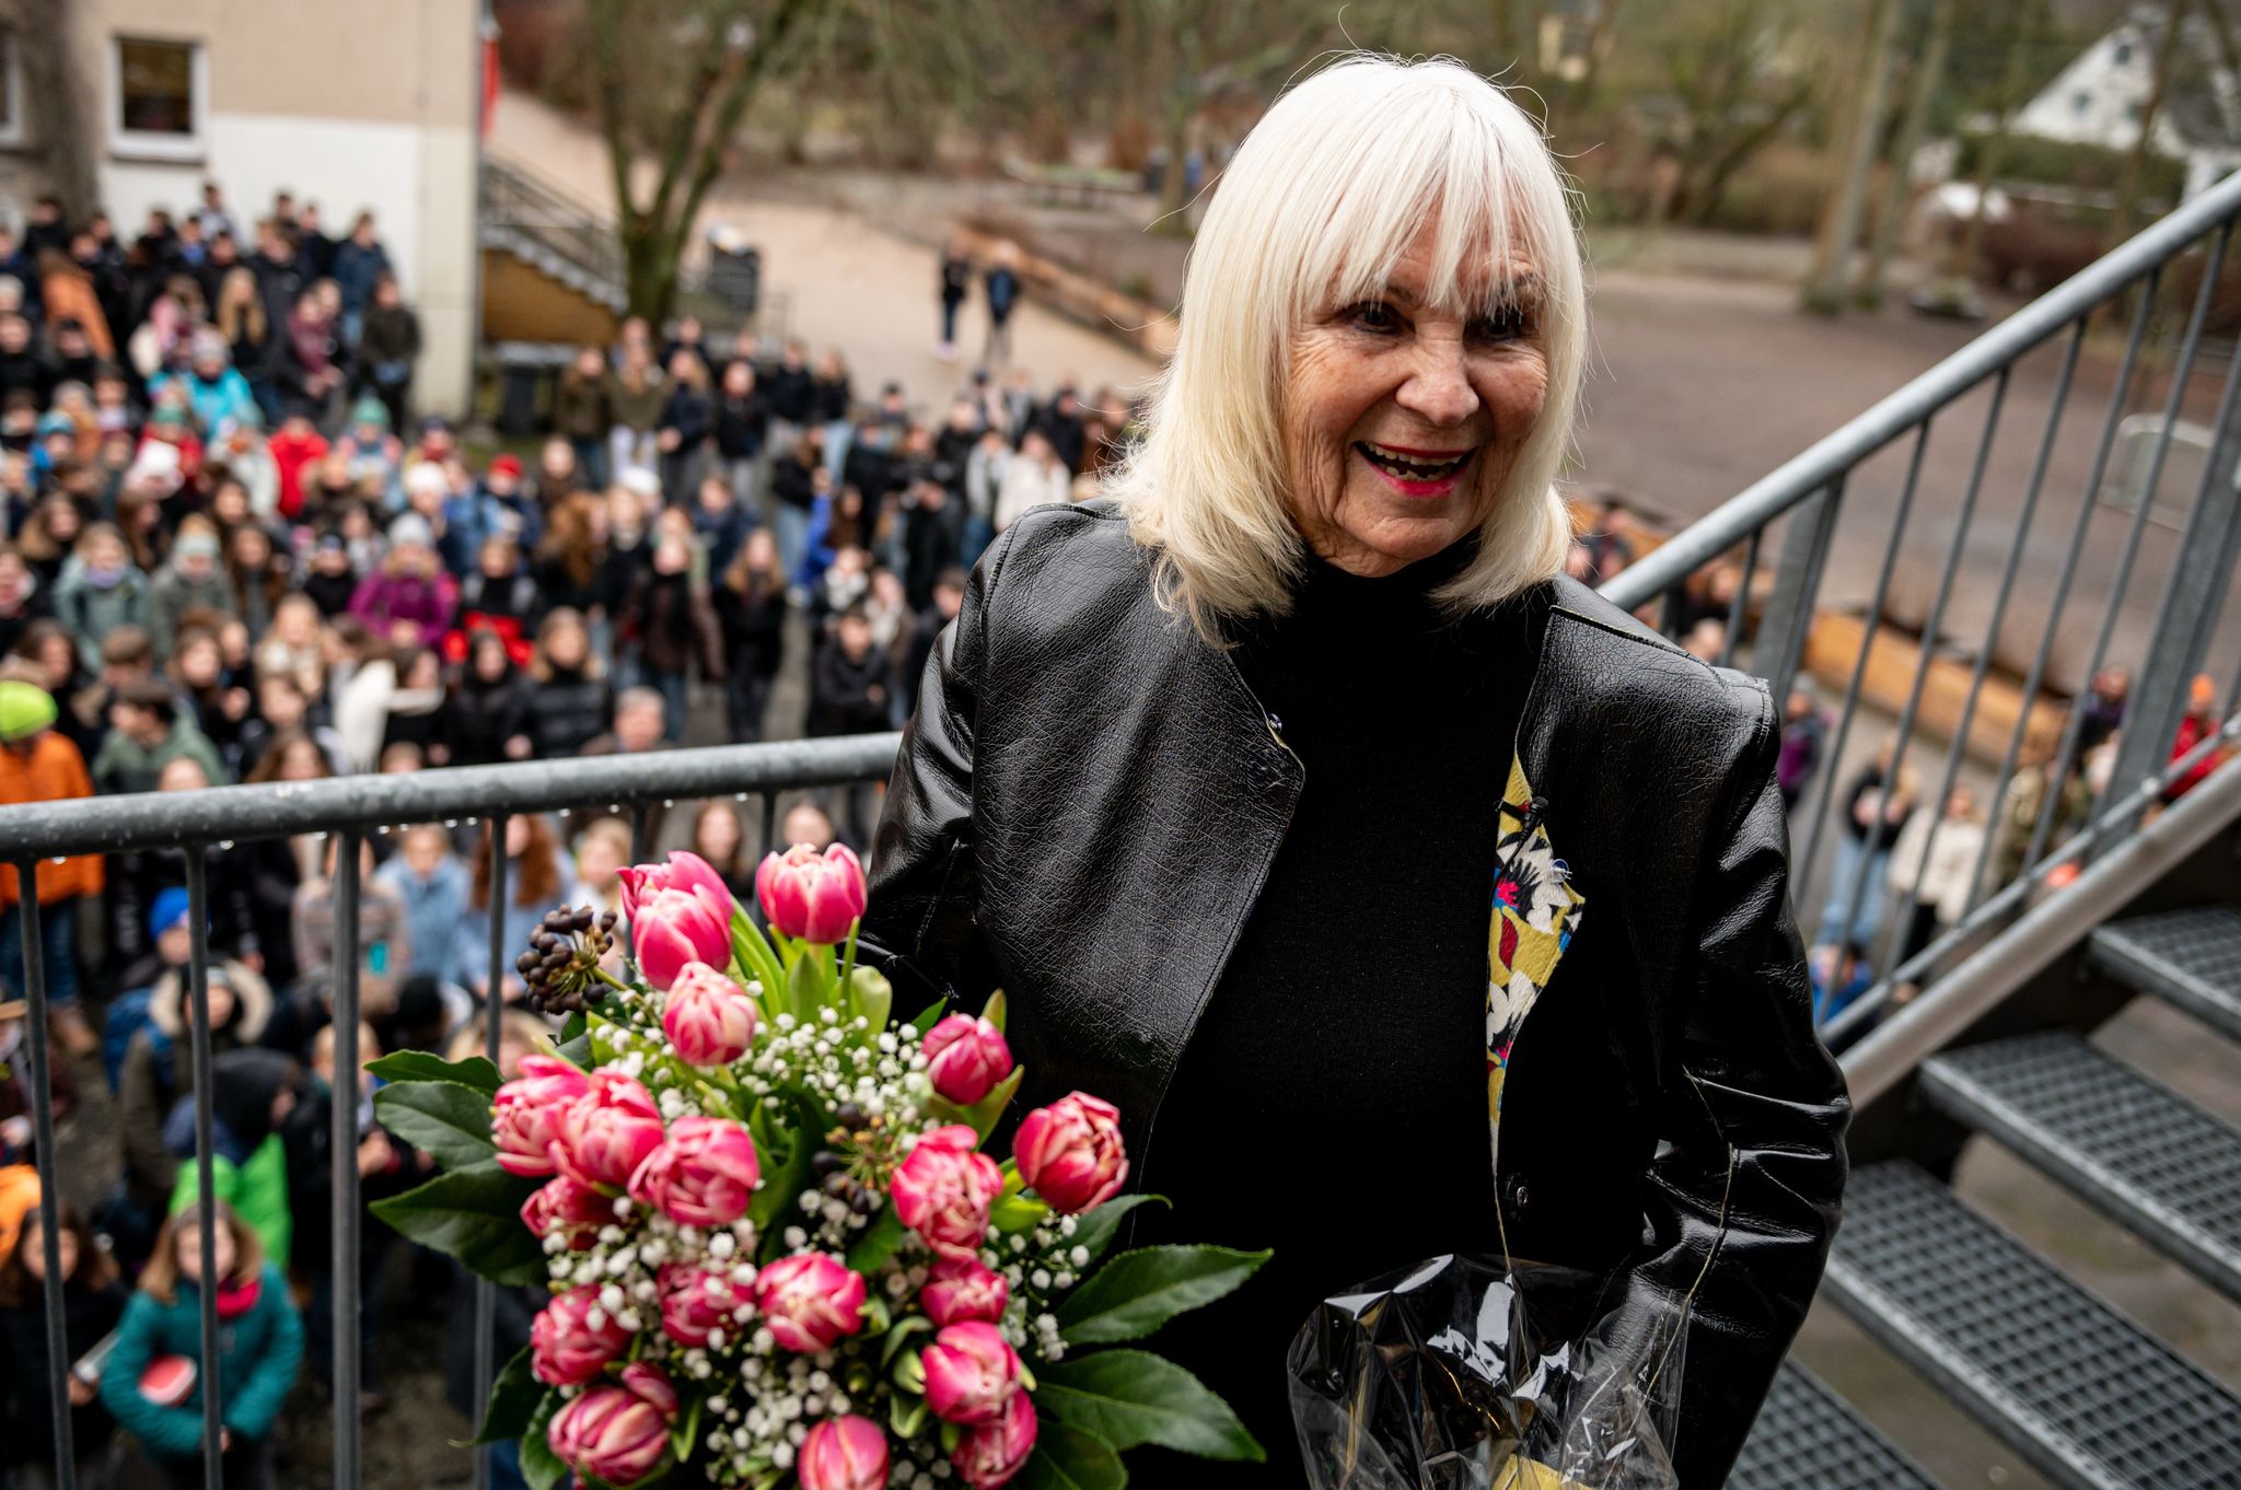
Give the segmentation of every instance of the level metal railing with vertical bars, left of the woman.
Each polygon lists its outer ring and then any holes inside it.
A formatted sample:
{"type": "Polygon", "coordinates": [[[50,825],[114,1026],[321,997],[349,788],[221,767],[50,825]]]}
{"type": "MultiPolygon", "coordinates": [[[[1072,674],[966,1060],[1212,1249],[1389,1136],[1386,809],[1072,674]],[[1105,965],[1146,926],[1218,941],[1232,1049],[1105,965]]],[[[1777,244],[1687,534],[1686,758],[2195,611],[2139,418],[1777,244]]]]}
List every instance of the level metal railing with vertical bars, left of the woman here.
{"type": "MultiPolygon", "coordinates": [[[[47,1387],[54,1403],[54,1477],[61,1490],[76,1490],[76,1454],[69,1418],[69,1349],[63,1324],[61,1266],[61,1185],[56,1172],[54,1071],[47,1051],[47,968],[40,939],[40,905],[34,890],[40,860],[72,854],[123,854],[132,849],[182,849],[186,856],[188,898],[188,1035],[193,1071],[195,1174],[199,1205],[202,1277],[217,1277],[213,1196],[213,1105],[211,1105],[211,939],[208,939],[208,869],[206,851],[231,849],[235,842],[289,838],[298,834],[338,836],[334,856],[334,1071],[352,1080],[359,1071],[359,851],[365,838],[419,822],[489,822],[491,878],[489,903],[489,990],[482,1006],[484,1053],[500,1062],[502,1019],[495,1017],[506,970],[522,948],[506,946],[506,820],[522,813],[554,811],[567,816],[583,809],[632,809],[632,842],[648,854],[648,822],[654,804],[695,798],[735,795],[760,800],[762,842],[778,838],[778,798],[805,786],[836,786],[863,780],[885,780],[894,764],[899,735],[854,735],[845,739],[798,739],[751,746],[715,746],[704,751],[661,751],[652,755],[603,755],[549,764],[462,766],[415,775],[345,775],[318,782],[273,782],[262,786],[215,786],[190,793],[141,793],[76,802],[40,802],[0,809],[0,858],[18,872],[22,896],[22,961],[29,1013],[29,1067],[34,1109],[34,1158],[38,1165],[38,1219],[45,1252],[47,1313],[47,1387]]],[[[361,1205],[359,1105],[332,1105],[334,1143],[334,1486],[356,1490],[363,1483],[361,1441],[361,1335],[359,1335],[359,1257],[361,1205]]],[[[202,1414],[204,1486],[220,1490],[220,1412],[222,1389],[215,1362],[217,1293],[197,1288],[202,1306],[202,1414]]],[[[475,1284],[475,1403],[491,1389],[498,1362],[495,1291],[475,1284]]],[[[475,1450],[475,1486],[491,1483],[491,1450],[475,1450]]]]}

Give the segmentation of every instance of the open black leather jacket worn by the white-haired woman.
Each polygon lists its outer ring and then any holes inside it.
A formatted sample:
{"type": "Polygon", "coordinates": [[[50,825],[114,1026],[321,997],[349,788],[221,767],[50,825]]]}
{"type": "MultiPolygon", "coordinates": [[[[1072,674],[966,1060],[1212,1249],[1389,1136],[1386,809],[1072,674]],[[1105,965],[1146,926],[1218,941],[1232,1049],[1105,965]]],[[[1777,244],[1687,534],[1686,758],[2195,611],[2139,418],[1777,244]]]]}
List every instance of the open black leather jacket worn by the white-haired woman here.
{"type": "MultiPolygon", "coordinates": [[[[1849,1102],[1788,910],[1779,730],[1761,681],[1584,585],[1544,585],[1535,614],[1517,764],[1584,914],[1508,1067],[1504,1230],[1517,1257],[1609,1270],[1620,1324],[1694,1288],[1679,1468],[1719,1486],[1844,1188],[1849,1102]]],[[[977,1011],[999,986],[1022,1109],[1080,1087],[1120,1107],[1134,1154],[1183,1140],[1156,1132],[1159,1102],[1302,764],[1228,656],[1159,609],[1105,502],[1006,529],[921,688],[865,921],[903,1002],[917,986],[977,1011]]]]}

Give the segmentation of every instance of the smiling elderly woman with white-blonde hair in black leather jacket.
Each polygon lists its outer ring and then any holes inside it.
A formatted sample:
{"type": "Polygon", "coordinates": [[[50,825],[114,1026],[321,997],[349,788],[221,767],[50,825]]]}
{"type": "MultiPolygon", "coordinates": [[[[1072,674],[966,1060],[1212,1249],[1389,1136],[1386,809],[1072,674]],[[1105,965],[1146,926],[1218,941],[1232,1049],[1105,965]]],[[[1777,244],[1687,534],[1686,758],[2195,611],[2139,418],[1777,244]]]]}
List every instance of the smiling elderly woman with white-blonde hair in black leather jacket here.
{"type": "Polygon", "coordinates": [[[1540,130],[1342,60],[1224,173],[1141,446],[1004,531],[928,661],[867,934],[919,997],[1004,988],[1022,1105],[1116,1102],[1179,1235],[1275,1248],[1156,1340],[1268,1465],[1145,1483],[1300,1486],[1313,1304],[1508,1250],[1692,1302],[1710,1488],[1813,1297],[1849,1109],[1779,730],[1564,576],[1584,343],[1540,130]]]}

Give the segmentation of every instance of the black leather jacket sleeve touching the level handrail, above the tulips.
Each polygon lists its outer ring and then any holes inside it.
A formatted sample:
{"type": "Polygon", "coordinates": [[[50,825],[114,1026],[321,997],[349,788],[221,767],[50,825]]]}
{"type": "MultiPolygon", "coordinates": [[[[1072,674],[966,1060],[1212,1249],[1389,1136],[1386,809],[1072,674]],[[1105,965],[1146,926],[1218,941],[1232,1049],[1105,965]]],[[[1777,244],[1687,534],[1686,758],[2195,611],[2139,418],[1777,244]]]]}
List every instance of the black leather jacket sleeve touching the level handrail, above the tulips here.
{"type": "Polygon", "coordinates": [[[973,733],[988,659],[991,596],[1013,536],[991,544],[919,681],[919,706],[872,836],[861,952],[894,981],[896,1008],[975,999],[995,986],[977,925],[973,733]]]}

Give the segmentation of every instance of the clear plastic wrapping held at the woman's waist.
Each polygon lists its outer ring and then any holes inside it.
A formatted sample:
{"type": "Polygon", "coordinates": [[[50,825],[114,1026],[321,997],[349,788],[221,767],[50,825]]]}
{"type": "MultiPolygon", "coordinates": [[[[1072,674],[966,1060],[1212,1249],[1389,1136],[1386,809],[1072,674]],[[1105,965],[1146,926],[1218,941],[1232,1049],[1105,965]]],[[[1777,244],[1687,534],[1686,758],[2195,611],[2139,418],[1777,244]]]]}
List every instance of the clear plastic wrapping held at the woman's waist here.
{"type": "Polygon", "coordinates": [[[1434,1257],[1324,1300],[1286,1358],[1313,1490],[1676,1490],[1685,1309],[1434,1257]]]}

